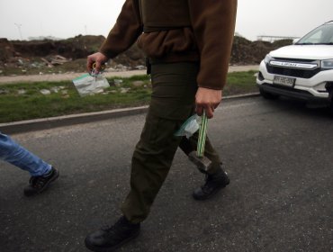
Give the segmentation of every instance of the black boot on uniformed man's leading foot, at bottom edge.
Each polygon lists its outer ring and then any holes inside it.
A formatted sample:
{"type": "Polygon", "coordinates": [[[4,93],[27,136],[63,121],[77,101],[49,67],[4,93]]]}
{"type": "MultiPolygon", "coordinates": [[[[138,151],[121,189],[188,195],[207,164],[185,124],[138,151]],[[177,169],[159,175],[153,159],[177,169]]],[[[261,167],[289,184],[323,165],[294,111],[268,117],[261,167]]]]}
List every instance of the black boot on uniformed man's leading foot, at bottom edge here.
{"type": "Polygon", "coordinates": [[[114,251],[139,235],[140,224],[133,224],[124,216],[113,226],[103,227],[85,238],[85,247],[92,251],[114,251]]]}

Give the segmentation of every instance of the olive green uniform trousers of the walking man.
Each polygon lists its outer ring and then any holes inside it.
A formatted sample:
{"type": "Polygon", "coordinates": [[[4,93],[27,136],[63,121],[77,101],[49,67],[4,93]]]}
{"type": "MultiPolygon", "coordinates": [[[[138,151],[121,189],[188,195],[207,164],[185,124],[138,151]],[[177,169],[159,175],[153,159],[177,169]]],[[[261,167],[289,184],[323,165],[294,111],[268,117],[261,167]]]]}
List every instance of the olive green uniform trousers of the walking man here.
{"type": "MultiPolygon", "coordinates": [[[[152,94],[144,128],[134,150],[130,193],[121,205],[124,216],[133,223],[148,216],[159,189],[166,179],[182,137],[175,131],[194,113],[198,63],[182,62],[151,66],[152,94]]],[[[190,138],[196,149],[197,134],[190,138]]],[[[220,168],[220,157],[206,139],[204,155],[220,168]]]]}

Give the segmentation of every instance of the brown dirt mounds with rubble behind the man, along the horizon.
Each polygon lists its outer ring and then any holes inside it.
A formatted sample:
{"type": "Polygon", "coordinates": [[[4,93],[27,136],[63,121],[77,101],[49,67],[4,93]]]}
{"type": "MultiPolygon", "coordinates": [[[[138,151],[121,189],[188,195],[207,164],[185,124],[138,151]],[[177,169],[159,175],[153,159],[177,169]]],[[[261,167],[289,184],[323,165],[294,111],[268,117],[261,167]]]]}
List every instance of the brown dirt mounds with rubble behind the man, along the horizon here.
{"type": "MultiPolygon", "coordinates": [[[[85,64],[77,69],[77,62],[84,61],[89,54],[99,49],[105,38],[103,36],[78,35],[67,40],[6,40],[0,39],[0,74],[35,74],[82,71],[85,64]],[[74,63],[76,62],[76,63],[74,63]],[[45,69],[46,68],[46,69],[45,69]],[[16,71],[15,71],[16,69],[16,71]]],[[[259,64],[272,49],[292,44],[292,40],[278,40],[274,43],[266,41],[250,41],[235,36],[230,64],[259,64]]],[[[110,67],[132,69],[145,64],[144,55],[136,45],[113,58],[110,67]]]]}

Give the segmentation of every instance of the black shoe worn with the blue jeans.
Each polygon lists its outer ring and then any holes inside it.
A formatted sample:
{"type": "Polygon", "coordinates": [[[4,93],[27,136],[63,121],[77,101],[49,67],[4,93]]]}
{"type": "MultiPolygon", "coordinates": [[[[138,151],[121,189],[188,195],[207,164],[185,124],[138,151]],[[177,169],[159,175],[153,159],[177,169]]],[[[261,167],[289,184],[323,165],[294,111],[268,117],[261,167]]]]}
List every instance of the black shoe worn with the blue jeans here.
{"type": "Polygon", "coordinates": [[[29,197],[43,192],[58,176],[59,172],[55,167],[51,168],[49,175],[31,176],[29,185],[24,188],[24,195],[29,197]]]}

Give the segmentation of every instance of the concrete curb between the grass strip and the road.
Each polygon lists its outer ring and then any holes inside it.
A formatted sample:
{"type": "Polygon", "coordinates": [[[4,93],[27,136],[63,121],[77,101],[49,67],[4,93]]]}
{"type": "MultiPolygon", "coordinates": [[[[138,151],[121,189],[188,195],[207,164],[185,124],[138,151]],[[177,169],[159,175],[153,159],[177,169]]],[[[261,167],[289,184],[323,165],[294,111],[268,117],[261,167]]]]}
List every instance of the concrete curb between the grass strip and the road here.
{"type": "MultiPolygon", "coordinates": [[[[254,97],[258,95],[259,93],[229,95],[223,97],[223,100],[240,99],[240,98],[254,97]]],[[[8,123],[0,123],[0,131],[7,134],[14,134],[14,133],[29,132],[34,130],[49,130],[53,128],[74,125],[79,123],[103,121],[112,118],[118,118],[121,116],[139,114],[142,112],[147,112],[147,110],[148,110],[148,105],[134,107],[134,108],[115,109],[103,112],[85,112],[79,114],[71,114],[71,115],[49,117],[49,118],[42,118],[35,120],[14,121],[8,123]]]]}

